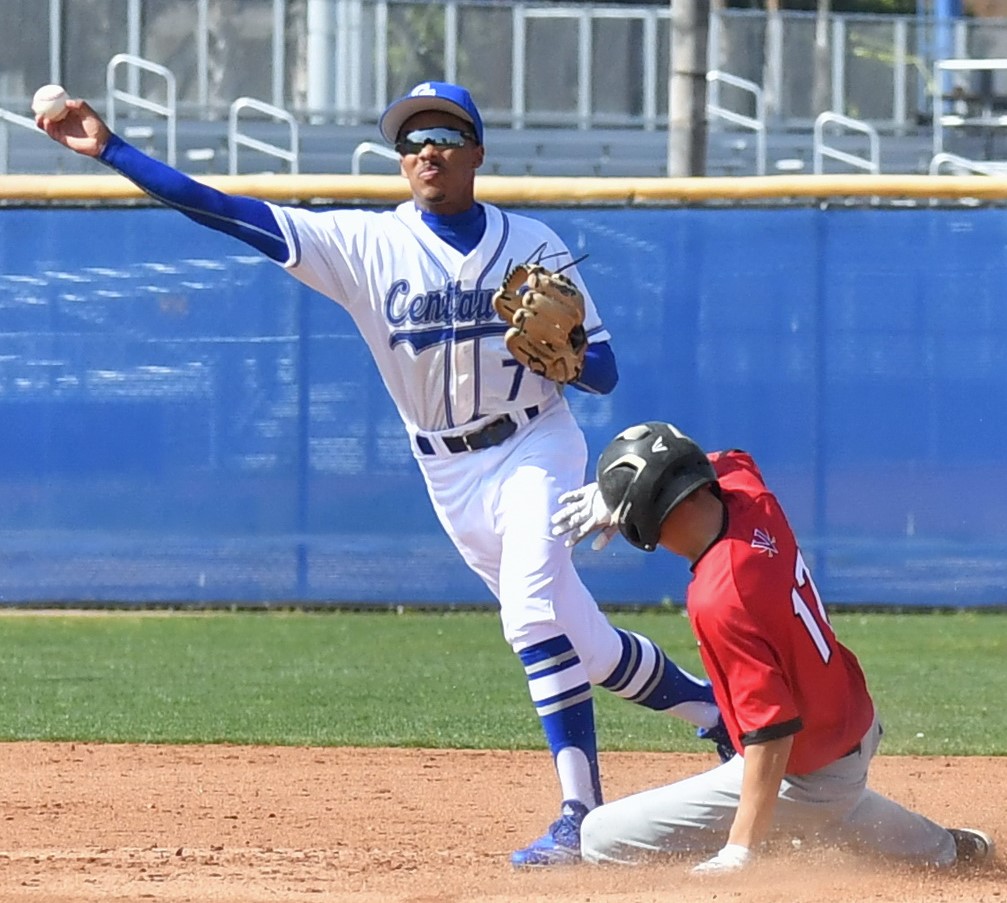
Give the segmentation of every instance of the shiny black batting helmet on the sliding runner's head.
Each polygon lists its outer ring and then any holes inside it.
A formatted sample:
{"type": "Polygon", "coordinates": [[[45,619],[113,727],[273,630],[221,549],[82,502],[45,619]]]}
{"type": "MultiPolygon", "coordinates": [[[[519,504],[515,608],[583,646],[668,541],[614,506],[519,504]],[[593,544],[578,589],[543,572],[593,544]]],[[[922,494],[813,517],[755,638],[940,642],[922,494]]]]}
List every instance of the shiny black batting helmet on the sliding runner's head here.
{"type": "Polygon", "coordinates": [[[619,530],[637,549],[654,552],[668,512],[690,492],[715,483],[710,459],[670,423],[623,430],[598,458],[598,487],[619,530]]]}

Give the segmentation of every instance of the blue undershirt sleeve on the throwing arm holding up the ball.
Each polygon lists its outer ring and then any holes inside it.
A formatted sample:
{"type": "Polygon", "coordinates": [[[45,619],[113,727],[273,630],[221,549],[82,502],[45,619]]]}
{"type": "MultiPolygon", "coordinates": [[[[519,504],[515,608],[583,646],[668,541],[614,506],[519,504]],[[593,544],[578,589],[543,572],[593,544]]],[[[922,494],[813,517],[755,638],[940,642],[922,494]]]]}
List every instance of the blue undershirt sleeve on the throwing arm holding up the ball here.
{"type": "Polygon", "coordinates": [[[184,213],[200,225],[234,236],[279,264],[289,259],[286,240],[265,201],[226,194],[203,185],[160,160],[148,157],[118,135],[109,138],[99,159],[155,200],[184,213]]]}

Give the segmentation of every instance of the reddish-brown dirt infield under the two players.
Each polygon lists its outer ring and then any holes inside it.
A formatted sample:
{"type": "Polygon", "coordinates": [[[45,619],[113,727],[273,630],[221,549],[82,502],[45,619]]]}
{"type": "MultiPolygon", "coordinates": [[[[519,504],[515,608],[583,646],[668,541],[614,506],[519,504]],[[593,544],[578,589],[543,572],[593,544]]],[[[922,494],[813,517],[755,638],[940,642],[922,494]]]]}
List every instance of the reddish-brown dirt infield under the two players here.
{"type": "MultiPolygon", "coordinates": [[[[608,753],[610,797],[713,757],[608,753]]],[[[953,874],[835,851],[697,880],[686,863],[517,873],[557,810],[546,753],[0,744],[0,901],[1007,903],[1003,853],[953,874]]],[[[1007,846],[1007,758],[895,758],[872,784],[1007,846]]]]}

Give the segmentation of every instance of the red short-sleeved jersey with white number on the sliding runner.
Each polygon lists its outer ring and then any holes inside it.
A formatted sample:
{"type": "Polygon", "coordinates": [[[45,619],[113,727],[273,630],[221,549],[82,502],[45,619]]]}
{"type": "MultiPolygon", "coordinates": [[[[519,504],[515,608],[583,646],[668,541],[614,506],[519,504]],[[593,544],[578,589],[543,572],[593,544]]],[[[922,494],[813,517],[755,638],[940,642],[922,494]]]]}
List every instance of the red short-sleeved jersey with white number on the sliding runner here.
{"type": "Polygon", "coordinates": [[[693,565],[689,620],[735,748],[793,734],[787,773],[807,774],[857,745],[874,704],[755,462],[741,451],[709,457],[726,516],[693,565]]]}

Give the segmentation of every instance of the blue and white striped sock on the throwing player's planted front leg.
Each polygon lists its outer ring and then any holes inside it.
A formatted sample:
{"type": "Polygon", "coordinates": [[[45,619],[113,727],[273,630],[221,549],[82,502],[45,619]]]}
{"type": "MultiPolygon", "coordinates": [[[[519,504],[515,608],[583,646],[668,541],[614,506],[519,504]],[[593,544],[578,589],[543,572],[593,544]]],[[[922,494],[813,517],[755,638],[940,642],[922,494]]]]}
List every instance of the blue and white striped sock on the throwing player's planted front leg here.
{"type": "Polygon", "coordinates": [[[601,803],[594,699],[587,670],[565,636],[522,649],[528,689],[556,763],[563,799],[601,803]]]}

